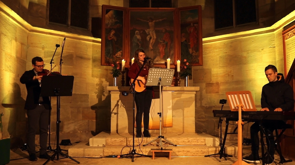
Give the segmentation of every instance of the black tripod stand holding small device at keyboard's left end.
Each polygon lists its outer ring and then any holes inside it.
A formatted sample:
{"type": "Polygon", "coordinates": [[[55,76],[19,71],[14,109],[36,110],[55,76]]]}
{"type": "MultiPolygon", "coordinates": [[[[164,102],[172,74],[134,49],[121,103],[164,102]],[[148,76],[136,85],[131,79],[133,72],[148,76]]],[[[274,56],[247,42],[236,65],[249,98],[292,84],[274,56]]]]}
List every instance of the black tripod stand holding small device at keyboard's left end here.
{"type": "MultiPolygon", "coordinates": [[[[221,110],[222,110],[224,104],[226,104],[226,100],[225,99],[220,100],[219,104],[221,104],[221,110]]],[[[226,123],[226,130],[225,130],[225,135],[224,135],[224,139],[223,139],[223,143],[222,143],[222,121],[223,121],[223,119],[221,119],[221,117],[219,117],[219,122],[218,122],[217,128],[219,128],[219,126],[220,126],[220,142],[219,142],[220,150],[216,154],[205,155],[205,157],[219,155],[219,162],[221,162],[222,157],[224,158],[224,160],[227,160],[226,157],[233,157],[232,155],[228,155],[228,154],[224,153],[224,145],[225,145],[228,124],[226,123]]]]}

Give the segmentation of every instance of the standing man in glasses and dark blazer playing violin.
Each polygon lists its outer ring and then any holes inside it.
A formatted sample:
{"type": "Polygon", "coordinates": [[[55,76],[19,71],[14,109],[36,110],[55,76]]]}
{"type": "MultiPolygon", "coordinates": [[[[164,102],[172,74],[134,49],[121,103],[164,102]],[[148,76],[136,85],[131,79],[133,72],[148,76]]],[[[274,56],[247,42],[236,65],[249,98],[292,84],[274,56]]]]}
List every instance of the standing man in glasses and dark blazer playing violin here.
{"type": "Polygon", "coordinates": [[[40,131],[40,159],[49,159],[47,154],[47,137],[49,126],[49,111],[51,104],[49,97],[41,97],[41,79],[43,75],[38,75],[43,71],[45,66],[41,57],[32,59],[33,69],[25,71],[20,78],[22,84],[26,84],[27,97],[25,109],[28,116],[28,133],[27,133],[27,149],[29,152],[29,160],[36,161],[35,135],[39,126],[40,131]]]}

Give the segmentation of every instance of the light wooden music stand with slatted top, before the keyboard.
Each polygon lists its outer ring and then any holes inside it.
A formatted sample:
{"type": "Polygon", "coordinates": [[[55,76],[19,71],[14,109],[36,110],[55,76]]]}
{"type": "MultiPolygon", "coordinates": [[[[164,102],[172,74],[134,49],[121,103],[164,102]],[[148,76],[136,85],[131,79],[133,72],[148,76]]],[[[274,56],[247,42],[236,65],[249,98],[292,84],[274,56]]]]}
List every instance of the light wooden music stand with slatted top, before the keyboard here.
{"type": "MultiPolygon", "coordinates": [[[[242,160],[242,109],[243,111],[257,111],[250,91],[226,92],[231,111],[238,111],[238,160],[232,165],[248,165],[242,160]],[[245,106],[244,106],[245,105],[245,106]]],[[[250,164],[249,164],[250,165],[250,164]]]]}

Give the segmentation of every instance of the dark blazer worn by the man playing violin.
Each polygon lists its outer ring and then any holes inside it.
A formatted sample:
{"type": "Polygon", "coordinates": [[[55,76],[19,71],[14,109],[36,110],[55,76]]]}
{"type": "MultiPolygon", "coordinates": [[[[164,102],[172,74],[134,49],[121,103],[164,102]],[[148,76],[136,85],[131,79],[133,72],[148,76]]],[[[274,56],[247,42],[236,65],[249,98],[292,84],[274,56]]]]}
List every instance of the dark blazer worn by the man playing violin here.
{"type": "MultiPolygon", "coordinates": [[[[25,71],[25,73],[20,78],[20,82],[22,84],[26,84],[27,88],[27,98],[25,103],[25,109],[35,109],[37,105],[39,104],[39,98],[41,93],[41,87],[39,85],[39,81],[33,80],[33,77],[35,76],[34,70],[25,71]]],[[[50,100],[49,97],[42,97],[43,98],[43,105],[46,109],[51,109],[50,100]]]]}

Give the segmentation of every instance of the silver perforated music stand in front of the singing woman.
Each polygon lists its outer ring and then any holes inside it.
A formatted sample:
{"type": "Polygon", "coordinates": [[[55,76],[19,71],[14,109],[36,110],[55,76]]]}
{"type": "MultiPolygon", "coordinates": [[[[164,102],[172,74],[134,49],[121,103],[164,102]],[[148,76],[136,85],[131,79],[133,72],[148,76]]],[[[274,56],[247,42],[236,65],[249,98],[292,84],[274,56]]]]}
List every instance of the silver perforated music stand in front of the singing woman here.
{"type": "Polygon", "coordinates": [[[162,68],[150,68],[148,71],[148,79],[146,86],[160,86],[160,110],[158,112],[158,115],[160,117],[160,135],[153,139],[152,141],[144,144],[143,146],[146,146],[152,142],[156,143],[157,145],[160,145],[161,150],[163,150],[162,147],[162,138],[171,143],[172,145],[176,146],[171,141],[167,140],[164,136],[162,136],[162,89],[161,86],[171,86],[172,79],[174,75],[174,69],[162,69],[162,68]],[[155,140],[160,139],[160,144],[155,142],[155,140]]]}

